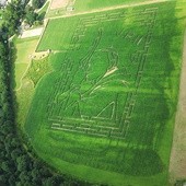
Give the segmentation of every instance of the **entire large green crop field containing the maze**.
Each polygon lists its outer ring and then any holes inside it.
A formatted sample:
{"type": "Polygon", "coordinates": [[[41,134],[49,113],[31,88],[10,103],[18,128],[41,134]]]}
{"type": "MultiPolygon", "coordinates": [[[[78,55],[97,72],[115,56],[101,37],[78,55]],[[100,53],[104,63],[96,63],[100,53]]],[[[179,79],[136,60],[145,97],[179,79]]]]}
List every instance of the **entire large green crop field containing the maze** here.
{"type": "Polygon", "coordinates": [[[93,183],[166,185],[183,39],[175,5],[49,20],[37,51],[50,55],[26,74],[35,93],[24,130],[50,166],[93,183]]]}

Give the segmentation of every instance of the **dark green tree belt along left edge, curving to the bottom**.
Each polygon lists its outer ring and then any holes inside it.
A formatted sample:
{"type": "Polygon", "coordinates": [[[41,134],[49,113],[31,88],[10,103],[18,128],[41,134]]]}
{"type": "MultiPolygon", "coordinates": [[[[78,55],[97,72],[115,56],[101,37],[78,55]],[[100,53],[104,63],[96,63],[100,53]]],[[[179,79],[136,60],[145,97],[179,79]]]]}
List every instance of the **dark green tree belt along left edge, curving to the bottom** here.
{"type": "Polygon", "coordinates": [[[9,37],[19,32],[25,4],[13,1],[4,10],[0,27],[0,186],[88,185],[49,170],[19,138],[11,90],[13,53],[9,37]]]}

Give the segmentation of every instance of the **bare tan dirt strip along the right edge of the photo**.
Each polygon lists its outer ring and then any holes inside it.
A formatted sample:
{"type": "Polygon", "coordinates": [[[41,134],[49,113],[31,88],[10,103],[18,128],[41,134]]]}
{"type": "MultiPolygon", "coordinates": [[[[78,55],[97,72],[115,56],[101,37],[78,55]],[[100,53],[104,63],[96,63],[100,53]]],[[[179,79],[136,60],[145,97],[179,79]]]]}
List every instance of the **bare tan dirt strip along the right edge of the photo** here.
{"type": "Polygon", "coordinates": [[[186,32],[184,36],[183,67],[175,119],[173,148],[170,160],[170,182],[186,178],[186,32]]]}

